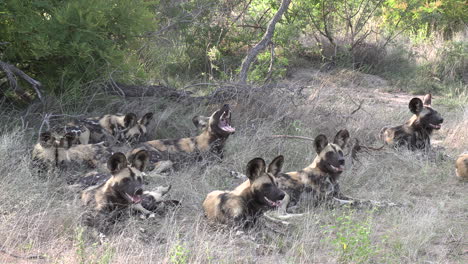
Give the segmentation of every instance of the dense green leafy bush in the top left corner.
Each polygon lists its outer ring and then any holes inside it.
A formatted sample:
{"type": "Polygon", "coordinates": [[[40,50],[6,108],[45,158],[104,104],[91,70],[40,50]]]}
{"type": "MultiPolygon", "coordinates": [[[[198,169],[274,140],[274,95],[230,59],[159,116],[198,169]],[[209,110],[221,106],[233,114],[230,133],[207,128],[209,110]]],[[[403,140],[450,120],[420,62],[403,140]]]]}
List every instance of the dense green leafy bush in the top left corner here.
{"type": "Polygon", "coordinates": [[[152,13],[143,0],[7,0],[0,7],[0,59],[48,92],[83,93],[81,85],[98,78],[144,74],[137,50],[152,13]]]}

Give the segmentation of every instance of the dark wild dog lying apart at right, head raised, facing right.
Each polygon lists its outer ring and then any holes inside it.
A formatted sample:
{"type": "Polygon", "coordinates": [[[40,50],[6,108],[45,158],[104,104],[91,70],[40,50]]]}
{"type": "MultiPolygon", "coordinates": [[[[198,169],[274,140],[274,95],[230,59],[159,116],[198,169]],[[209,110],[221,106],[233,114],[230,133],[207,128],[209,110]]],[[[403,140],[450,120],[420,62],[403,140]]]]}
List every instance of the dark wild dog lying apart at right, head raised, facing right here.
{"type": "Polygon", "coordinates": [[[432,96],[427,94],[422,101],[413,98],[409,109],[413,117],[405,124],[396,127],[384,127],[380,135],[388,145],[407,147],[410,150],[429,150],[430,137],[434,130],[439,130],[444,119],[431,106],[432,96]]]}

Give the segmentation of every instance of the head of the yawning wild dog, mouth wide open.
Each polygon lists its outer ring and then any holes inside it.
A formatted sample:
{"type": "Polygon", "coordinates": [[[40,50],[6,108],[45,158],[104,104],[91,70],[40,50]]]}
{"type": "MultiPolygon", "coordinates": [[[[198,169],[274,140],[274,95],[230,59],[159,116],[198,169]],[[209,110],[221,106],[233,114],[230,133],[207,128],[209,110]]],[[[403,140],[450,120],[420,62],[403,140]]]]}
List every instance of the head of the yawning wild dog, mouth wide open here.
{"type": "Polygon", "coordinates": [[[236,129],[231,126],[231,110],[228,104],[225,104],[210,117],[195,116],[192,121],[199,129],[208,130],[219,137],[228,137],[236,132],[236,129]]]}

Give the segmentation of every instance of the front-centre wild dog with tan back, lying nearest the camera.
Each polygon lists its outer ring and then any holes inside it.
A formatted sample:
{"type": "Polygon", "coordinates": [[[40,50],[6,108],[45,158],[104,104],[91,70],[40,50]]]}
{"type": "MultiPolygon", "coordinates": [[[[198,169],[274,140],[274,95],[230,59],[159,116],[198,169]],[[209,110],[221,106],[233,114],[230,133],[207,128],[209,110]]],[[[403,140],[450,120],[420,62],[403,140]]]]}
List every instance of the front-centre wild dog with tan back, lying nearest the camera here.
{"type": "Polygon", "coordinates": [[[203,202],[208,220],[223,224],[249,224],[269,208],[279,206],[285,193],[277,186],[283,156],[276,157],[268,168],[261,158],[247,164],[248,180],[233,191],[213,191],[203,202]]]}

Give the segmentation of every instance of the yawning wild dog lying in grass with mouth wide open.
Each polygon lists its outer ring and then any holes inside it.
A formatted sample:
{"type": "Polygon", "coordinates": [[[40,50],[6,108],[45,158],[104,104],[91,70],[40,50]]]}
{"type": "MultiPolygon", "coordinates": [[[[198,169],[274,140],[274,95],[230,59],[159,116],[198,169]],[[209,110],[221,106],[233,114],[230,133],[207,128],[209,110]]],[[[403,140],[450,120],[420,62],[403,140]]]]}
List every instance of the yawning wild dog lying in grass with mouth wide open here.
{"type": "Polygon", "coordinates": [[[149,151],[159,152],[164,160],[200,159],[207,153],[222,158],[224,144],[235,132],[231,126],[229,105],[224,105],[210,117],[196,116],[192,120],[202,129],[200,135],[191,138],[152,140],[143,143],[142,146],[149,151]]]}

